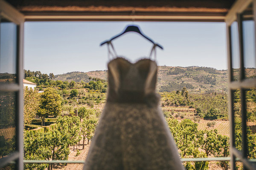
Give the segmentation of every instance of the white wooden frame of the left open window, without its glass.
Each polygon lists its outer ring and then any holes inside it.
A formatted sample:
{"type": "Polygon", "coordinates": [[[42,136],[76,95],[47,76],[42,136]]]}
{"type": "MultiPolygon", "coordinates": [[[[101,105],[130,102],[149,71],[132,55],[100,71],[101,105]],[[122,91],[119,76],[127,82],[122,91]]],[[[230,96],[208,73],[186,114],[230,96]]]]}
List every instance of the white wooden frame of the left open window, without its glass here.
{"type": "MultiPolygon", "coordinates": [[[[0,91],[15,92],[16,95],[16,151],[0,159],[0,167],[15,162],[18,170],[23,170],[23,29],[24,16],[3,0],[0,0],[0,18],[4,17],[17,24],[16,83],[0,84],[0,91]]],[[[0,23],[1,24],[1,23],[0,23]]]]}

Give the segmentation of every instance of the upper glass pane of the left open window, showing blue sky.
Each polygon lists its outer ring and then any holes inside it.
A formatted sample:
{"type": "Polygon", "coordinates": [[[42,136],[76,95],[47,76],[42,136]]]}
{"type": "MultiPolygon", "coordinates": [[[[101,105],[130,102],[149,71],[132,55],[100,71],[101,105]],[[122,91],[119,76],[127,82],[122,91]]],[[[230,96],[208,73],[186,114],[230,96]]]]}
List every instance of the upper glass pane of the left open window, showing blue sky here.
{"type": "Polygon", "coordinates": [[[17,25],[9,20],[0,22],[0,82],[16,82],[17,25]]]}

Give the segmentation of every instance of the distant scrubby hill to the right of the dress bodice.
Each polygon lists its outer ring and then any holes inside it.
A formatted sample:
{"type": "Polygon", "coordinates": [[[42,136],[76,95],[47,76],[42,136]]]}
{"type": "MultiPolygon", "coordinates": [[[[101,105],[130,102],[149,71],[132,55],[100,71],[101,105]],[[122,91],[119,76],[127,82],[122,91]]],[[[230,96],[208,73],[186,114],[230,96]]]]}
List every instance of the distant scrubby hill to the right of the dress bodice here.
{"type": "Polygon", "coordinates": [[[198,66],[158,66],[157,89],[171,92],[185,86],[189,92],[227,91],[227,79],[227,70],[198,66]]]}

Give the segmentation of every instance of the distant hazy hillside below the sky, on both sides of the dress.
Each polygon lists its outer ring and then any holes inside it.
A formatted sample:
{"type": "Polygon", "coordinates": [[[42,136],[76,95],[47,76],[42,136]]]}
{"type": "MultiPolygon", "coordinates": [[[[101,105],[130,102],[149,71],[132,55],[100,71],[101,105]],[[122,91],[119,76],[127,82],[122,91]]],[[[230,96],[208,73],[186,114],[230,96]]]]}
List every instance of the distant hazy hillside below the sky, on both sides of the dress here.
{"type": "MultiPolygon", "coordinates": [[[[107,75],[107,70],[69,72],[62,75],[55,75],[55,80],[89,82],[90,77],[107,80],[107,75]]],[[[186,86],[189,92],[226,91],[227,70],[198,66],[158,66],[157,91],[171,92],[180,90],[184,86],[186,86]]]]}

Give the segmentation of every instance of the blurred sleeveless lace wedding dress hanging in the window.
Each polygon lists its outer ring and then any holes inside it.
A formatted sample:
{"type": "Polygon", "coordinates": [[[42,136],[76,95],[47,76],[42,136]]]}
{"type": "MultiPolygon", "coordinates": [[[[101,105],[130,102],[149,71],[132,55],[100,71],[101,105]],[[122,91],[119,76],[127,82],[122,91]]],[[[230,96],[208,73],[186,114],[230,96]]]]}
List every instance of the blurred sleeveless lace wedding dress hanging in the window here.
{"type": "Polygon", "coordinates": [[[84,170],[183,170],[155,92],[150,59],[108,63],[108,98],[84,170]]]}

